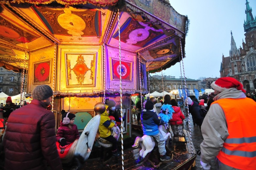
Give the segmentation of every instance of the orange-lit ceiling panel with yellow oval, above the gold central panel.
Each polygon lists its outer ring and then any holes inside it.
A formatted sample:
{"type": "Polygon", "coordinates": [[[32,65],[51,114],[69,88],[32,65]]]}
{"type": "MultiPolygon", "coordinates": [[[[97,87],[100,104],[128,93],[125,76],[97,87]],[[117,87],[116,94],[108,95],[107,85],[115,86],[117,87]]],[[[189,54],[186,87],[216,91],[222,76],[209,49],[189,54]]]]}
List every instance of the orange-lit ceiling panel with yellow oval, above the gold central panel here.
{"type": "Polygon", "coordinates": [[[111,7],[92,5],[21,6],[13,5],[12,8],[58,44],[101,43],[112,14],[111,7]]]}

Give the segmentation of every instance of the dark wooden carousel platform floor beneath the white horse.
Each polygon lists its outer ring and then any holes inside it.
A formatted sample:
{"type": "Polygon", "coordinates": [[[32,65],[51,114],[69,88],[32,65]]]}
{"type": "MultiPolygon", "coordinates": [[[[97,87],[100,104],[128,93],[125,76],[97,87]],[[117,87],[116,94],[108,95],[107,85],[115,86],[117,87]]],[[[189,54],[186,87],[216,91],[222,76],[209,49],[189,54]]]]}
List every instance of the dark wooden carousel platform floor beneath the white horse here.
{"type": "MultiPolygon", "coordinates": [[[[136,170],[144,170],[144,169],[190,169],[195,166],[196,152],[195,150],[191,150],[191,142],[189,132],[184,130],[185,140],[186,142],[172,142],[169,143],[169,139],[166,141],[166,151],[167,155],[171,156],[173,154],[173,159],[170,162],[163,163],[159,162],[159,153],[158,148],[155,147],[154,150],[145,157],[145,160],[138,164],[139,151],[141,148],[133,149],[129,148],[124,150],[124,169],[136,169],[136,170]],[[152,163],[159,165],[158,168],[154,168],[152,163]]],[[[193,146],[193,144],[192,144],[193,146]]],[[[194,146],[193,146],[194,148],[194,146]]],[[[112,169],[112,170],[120,170],[122,169],[122,159],[121,156],[117,158],[111,158],[107,162],[102,162],[99,159],[91,159],[90,158],[84,163],[81,169],[90,169],[90,170],[98,170],[98,169],[112,169]]]]}

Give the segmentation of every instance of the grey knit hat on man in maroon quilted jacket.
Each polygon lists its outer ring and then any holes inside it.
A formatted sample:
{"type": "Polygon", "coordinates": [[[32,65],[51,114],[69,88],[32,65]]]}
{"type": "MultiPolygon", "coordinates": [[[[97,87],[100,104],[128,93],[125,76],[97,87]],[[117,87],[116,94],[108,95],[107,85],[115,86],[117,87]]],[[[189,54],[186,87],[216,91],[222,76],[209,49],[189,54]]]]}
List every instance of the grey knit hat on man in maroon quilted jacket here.
{"type": "Polygon", "coordinates": [[[45,100],[51,96],[53,96],[53,90],[45,84],[36,86],[32,91],[32,99],[45,100]]]}

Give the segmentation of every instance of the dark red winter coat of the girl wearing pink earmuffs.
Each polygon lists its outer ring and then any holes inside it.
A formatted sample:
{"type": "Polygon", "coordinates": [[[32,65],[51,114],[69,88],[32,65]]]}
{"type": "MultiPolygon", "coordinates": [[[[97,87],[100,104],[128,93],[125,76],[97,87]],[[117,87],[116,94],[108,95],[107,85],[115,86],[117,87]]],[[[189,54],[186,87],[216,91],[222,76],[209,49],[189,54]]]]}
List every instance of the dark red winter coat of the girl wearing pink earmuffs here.
{"type": "Polygon", "coordinates": [[[69,129],[69,125],[64,125],[60,122],[60,126],[56,135],[56,141],[60,138],[65,138],[67,144],[71,144],[73,141],[79,138],[79,132],[75,124],[71,125],[72,129],[69,129]]]}

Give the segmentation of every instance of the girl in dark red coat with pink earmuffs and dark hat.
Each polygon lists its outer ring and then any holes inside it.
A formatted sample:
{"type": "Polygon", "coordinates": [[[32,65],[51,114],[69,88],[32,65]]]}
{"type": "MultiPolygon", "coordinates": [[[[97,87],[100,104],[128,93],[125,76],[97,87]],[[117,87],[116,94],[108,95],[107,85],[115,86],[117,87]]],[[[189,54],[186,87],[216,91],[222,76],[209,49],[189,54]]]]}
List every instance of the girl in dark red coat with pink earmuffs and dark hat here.
{"type": "Polygon", "coordinates": [[[56,141],[60,143],[61,146],[71,144],[76,139],[79,138],[79,132],[75,122],[75,114],[66,113],[65,110],[60,112],[62,114],[62,121],[58,132],[56,134],[56,141]]]}

